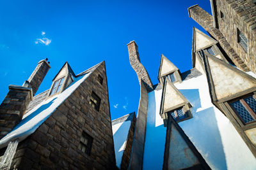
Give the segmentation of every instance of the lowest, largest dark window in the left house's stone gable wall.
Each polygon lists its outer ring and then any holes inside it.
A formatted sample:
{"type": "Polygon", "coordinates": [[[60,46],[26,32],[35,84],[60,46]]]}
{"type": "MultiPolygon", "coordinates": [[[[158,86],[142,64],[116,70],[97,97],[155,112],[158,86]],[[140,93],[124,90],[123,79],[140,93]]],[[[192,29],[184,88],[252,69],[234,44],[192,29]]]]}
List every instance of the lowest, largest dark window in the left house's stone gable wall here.
{"type": "Polygon", "coordinates": [[[86,132],[83,132],[78,149],[86,153],[87,155],[90,155],[92,150],[92,141],[92,136],[88,135],[86,132]]]}

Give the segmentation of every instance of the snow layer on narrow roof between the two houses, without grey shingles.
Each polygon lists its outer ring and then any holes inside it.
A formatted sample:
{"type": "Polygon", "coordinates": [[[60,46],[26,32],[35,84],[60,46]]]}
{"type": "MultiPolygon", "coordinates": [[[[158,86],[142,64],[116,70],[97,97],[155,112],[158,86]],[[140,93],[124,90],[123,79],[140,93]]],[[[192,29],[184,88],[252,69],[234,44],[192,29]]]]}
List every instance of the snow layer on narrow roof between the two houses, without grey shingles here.
{"type": "Polygon", "coordinates": [[[121,167],[122,157],[124,154],[130,126],[131,120],[112,125],[116,166],[119,168],[121,167]]]}

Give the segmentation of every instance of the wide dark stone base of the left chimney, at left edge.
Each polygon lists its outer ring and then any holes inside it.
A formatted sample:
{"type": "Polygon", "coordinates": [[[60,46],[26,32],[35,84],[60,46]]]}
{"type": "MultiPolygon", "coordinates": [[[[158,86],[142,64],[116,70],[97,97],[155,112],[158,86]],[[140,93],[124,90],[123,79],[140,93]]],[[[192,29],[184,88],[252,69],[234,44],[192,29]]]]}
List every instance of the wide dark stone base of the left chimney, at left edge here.
{"type": "Polygon", "coordinates": [[[9,92],[0,105],[0,139],[21,121],[32,99],[31,88],[9,86],[9,92]]]}

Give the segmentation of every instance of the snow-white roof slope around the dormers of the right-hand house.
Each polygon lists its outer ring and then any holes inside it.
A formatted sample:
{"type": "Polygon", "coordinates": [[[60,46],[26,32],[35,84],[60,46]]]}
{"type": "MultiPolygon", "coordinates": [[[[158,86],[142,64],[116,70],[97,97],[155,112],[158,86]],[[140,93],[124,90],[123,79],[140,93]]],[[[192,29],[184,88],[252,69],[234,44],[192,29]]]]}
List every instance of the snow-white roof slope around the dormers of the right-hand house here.
{"type": "MultiPolygon", "coordinates": [[[[204,75],[175,87],[192,104],[193,118],[179,125],[212,169],[256,169],[256,159],[241,136],[211,103],[204,75]]],[[[162,169],[166,128],[158,118],[161,90],[148,93],[148,117],[143,169],[162,169]],[[157,126],[156,126],[157,124],[157,126]]]]}

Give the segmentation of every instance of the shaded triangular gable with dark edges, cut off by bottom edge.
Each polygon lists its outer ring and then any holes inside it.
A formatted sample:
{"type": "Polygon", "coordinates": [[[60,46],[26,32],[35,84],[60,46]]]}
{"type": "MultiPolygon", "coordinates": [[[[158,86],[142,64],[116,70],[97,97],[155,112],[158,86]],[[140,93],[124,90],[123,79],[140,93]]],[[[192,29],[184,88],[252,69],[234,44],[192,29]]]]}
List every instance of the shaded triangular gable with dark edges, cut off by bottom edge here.
{"type": "Polygon", "coordinates": [[[211,169],[172,116],[166,133],[163,169],[211,169]]]}

